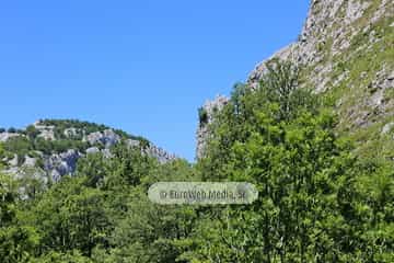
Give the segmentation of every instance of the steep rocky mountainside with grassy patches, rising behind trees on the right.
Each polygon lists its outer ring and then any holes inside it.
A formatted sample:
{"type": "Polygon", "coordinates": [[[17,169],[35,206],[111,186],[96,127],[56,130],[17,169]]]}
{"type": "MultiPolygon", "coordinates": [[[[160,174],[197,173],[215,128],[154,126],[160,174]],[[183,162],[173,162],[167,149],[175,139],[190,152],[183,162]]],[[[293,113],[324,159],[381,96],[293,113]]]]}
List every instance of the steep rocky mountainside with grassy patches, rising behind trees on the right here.
{"type": "MultiPolygon", "coordinates": [[[[264,34],[264,32],[262,32],[264,34]]],[[[299,66],[301,87],[327,98],[338,113],[338,132],[348,133],[360,156],[394,159],[394,2],[313,0],[297,42],[258,64],[246,83],[254,88],[273,59],[299,66]]],[[[211,119],[211,105],[201,108],[211,119]]],[[[209,137],[209,122],[197,130],[197,157],[209,137]]]]}

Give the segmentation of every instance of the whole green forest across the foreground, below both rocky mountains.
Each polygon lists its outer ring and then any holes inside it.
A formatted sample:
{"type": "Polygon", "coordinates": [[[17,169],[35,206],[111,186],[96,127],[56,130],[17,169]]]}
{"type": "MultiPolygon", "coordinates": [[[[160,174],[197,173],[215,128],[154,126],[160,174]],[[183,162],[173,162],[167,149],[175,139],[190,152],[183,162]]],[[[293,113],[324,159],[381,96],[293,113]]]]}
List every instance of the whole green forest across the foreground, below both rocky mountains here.
{"type": "MultiPolygon", "coordinates": [[[[298,72],[273,61],[257,88],[235,84],[196,163],[160,163],[143,146],[118,144],[48,186],[1,174],[0,262],[394,262],[393,161],[358,155],[336,129],[332,98],[299,89],[298,72]],[[160,181],[250,182],[259,195],[163,206],[147,196],[160,181]]],[[[3,144],[0,160],[83,147],[44,144],[3,144]]]]}

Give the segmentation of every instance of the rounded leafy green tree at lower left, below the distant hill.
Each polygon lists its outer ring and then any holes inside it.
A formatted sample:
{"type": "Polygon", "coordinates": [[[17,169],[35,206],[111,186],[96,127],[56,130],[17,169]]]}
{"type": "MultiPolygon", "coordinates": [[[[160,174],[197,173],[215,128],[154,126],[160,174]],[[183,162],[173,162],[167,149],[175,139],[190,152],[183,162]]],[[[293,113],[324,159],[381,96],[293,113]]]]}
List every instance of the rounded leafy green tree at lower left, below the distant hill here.
{"type": "Polygon", "coordinates": [[[83,185],[83,178],[65,179],[46,192],[26,215],[28,224],[42,235],[42,250],[62,253],[79,250],[90,255],[97,244],[106,243],[109,218],[104,193],[83,185]]]}

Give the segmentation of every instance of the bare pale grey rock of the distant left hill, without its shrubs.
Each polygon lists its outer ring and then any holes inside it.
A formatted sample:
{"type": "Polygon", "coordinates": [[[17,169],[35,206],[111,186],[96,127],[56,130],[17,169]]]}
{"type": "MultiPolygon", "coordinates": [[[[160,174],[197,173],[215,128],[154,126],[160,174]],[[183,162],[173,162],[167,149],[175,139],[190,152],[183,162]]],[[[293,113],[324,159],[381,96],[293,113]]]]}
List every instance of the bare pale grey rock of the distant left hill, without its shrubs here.
{"type": "MultiPolygon", "coordinates": [[[[39,176],[48,179],[53,182],[57,182],[61,179],[61,176],[74,173],[78,159],[81,157],[86,155],[101,153],[105,158],[112,158],[113,155],[111,152],[111,148],[116,144],[125,142],[129,147],[139,147],[141,144],[138,139],[123,138],[119,134],[111,128],[85,135],[85,130],[81,127],[67,127],[61,132],[59,130],[59,127],[55,125],[45,125],[40,121],[35,122],[33,126],[37,132],[36,136],[46,140],[53,140],[54,147],[58,142],[61,146],[61,140],[66,138],[65,144],[82,140],[88,142],[88,148],[80,149],[76,147],[76,149],[68,149],[62,152],[55,152],[54,148],[51,149],[51,152],[49,150],[50,153],[26,149],[28,155],[24,155],[22,157],[18,155],[4,157],[4,160],[2,161],[8,164],[5,172],[14,174],[16,178],[25,176],[27,170],[34,170],[34,174],[37,175],[37,173],[40,173],[39,176]],[[56,138],[55,130],[57,133],[61,132],[62,135],[58,135],[59,138],[56,138]]],[[[100,129],[102,129],[102,126],[100,129]]],[[[24,134],[4,132],[0,133],[0,141],[7,141],[10,138],[18,136],[23,136],[28,140],[32,139],[31,136],[26,136],[24,134]]],[[[34,138],[32,140],[34,140],[34,138]]],[[[80,144],[76,145],[79,146],[80,144]]],[[[51,144],[47,146],[51,146],[51,144]]],[[[175,155],[171,155],[162,148],[157,147],[148,141],[147,145],[143,145],[142,151],[146,155],[157,158],[161,163],[176,159],[175,155]]]]}

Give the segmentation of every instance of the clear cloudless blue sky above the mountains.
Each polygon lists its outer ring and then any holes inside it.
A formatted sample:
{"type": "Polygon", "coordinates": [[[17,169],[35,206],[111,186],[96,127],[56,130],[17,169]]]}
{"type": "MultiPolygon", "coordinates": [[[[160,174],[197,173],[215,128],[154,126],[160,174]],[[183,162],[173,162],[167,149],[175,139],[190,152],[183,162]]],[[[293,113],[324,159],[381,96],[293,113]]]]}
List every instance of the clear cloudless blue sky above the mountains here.
{"type": "Polygon", "coordinates": [[[193,160],[197,108],[294,41],[309,0],[2,1],[0,126],[79,118],[193,160]]]}

